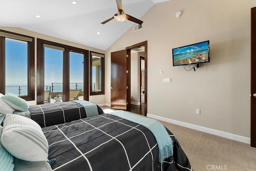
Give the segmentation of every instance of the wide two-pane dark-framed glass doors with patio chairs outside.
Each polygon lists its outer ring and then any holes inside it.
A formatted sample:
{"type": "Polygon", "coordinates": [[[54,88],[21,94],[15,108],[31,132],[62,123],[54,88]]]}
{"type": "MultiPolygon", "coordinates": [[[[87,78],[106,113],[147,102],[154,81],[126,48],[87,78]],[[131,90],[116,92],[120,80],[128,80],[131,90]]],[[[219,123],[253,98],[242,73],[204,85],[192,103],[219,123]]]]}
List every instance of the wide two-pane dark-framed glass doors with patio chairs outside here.
{"type": "Polygon", "coordinates": [[[37,39],[37,104],[70,101],[76,89],[89,100],[89,51],[37,39]]]}

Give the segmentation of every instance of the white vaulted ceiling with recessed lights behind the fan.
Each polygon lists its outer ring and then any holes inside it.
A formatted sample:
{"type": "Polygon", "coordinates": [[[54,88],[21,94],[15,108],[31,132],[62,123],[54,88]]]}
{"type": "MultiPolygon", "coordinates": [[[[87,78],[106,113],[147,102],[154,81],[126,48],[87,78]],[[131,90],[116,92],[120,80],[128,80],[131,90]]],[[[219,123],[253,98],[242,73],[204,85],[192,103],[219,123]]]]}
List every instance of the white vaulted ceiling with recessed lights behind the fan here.
{"type": "MultiPolygon", "coordinates": [[[[166,0],[122,0],[124,11],[140,19],[154,4],[166,0]]],[[[19,27],[56,38],[108,49],[135,23],[111,20],[115,0],[0,0],[0,26],[19,27]],[[36,18],[40,15],[40,18],[36,18]],[[100,32],[101,34],[97,34],[100,32]]]]}

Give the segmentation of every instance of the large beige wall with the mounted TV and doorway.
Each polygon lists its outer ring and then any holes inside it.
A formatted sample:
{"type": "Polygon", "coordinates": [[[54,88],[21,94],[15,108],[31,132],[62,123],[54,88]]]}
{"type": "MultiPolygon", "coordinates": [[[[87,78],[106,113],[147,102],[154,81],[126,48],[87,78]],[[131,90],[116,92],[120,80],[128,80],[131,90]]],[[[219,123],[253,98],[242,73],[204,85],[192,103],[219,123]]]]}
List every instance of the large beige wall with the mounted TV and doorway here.
{"type": "Polygon", "coordinates": [[[171,0],[155,4],[106,50],[106,103],[110,52],[148,41],[148,113],[250,137],[250,8],[255,0],[171,0]],[[176,12],[181,11],[180,18],[176,12]],[[210,40],[210,63],[185,71],[172,66],[172,48],[210,40]],[[160,70],[164,74],[160,75],[160,70]],[[163,83],[171,78],[171,83],[163,83]],[[201,109],[201,115],[196,115],[201,109]]]}

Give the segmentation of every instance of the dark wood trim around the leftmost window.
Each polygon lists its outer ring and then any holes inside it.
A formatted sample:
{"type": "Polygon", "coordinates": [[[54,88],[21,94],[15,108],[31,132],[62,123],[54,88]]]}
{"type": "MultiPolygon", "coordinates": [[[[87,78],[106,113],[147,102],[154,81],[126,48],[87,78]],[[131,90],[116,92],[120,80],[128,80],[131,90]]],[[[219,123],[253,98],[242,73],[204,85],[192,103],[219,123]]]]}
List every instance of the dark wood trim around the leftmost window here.
{"type": "MultiPolygon", "coordinates": [[[[35,100],[35,38],[5,30],[0,32],[32,39],[32,42],[28,42],[28,95],[20,97],[26,101],[35,100]]],[[[3,36],[0,36],[0,45],[0,93],[5,94],[5,37],[3,36]]]]}

